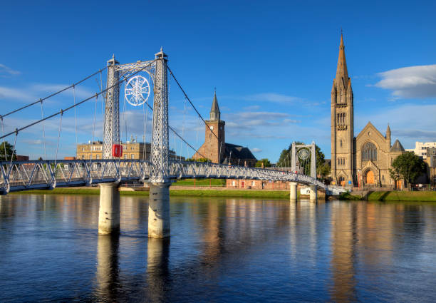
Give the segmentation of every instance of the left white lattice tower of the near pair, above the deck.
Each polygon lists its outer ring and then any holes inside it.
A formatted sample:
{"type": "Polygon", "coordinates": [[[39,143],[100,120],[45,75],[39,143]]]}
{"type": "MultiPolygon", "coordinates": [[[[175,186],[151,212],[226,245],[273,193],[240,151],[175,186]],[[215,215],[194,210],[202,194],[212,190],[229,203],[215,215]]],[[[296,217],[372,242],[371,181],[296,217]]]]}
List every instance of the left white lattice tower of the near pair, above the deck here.
{"type": "Polygon", "coordinates": [[[115,68],[119,62],[115,56],[108,61],[105,120],[103,121],[103,159],[112,158],[112,145],[120,144],[120,86],[115,85],[120,72],[115,68]]]}

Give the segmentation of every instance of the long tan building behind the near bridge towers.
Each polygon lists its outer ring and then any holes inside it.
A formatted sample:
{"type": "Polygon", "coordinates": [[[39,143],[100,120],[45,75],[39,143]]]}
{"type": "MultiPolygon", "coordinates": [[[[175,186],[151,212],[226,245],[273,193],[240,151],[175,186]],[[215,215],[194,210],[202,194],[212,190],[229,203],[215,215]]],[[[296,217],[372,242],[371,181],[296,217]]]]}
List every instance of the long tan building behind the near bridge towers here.
{"type": "MultiPolygon", "coordinates": [[[[133,137],[123,145],[122,159],[150,160],[150,143],[137,142],[133,137]]],[[[185,160],[177,156],[174,150],[169,150],[170,160],[185,160]]],[[[103,141],[89,141],[77,145],[76,158],[79,160],[100,160],[103,158],[103,141]]]]}

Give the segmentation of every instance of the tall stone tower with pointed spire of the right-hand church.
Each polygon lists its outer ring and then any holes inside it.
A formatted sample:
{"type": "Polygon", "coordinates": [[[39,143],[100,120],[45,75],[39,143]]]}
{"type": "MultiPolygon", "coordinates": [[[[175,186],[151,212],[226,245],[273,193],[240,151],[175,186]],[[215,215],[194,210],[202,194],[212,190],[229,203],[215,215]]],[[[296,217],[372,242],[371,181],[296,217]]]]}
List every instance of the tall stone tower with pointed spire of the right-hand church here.
{"type": "Polygon", "coordinates": [[[353,89],[341,34],[338,67],[331,89],[331,175],[336,184],[353,184],[354,154],[353,89]]]}

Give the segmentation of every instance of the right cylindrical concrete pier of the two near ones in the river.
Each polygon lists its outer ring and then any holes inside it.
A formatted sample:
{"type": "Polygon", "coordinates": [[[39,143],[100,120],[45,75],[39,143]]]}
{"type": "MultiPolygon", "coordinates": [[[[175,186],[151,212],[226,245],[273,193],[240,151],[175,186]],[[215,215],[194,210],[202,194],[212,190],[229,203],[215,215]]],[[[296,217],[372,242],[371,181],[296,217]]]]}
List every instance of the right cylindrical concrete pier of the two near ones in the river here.
{"type": "Polygon", "coordinates": [[[170,185],[150,183],[148,237],[170,237],[170,185]]]}

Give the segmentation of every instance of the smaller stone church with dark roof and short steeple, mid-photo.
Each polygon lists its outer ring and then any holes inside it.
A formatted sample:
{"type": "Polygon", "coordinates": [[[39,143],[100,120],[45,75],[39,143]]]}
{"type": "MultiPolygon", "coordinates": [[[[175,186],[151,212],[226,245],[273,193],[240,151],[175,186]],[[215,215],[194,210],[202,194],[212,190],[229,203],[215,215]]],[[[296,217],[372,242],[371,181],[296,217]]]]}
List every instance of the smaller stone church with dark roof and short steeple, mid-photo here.
{"type": "Polygon", "coordinates": [[[209,120],[206,120],[204,143],[192,158],[207,158],[211,160],[212,163],[228,165],[256,165],[256,157],[254,157],[249,148],[226,143],[225,125],[225,121],[221,120],[217,93],[215,92],[212,108],[209,113],[209,120]]]}

